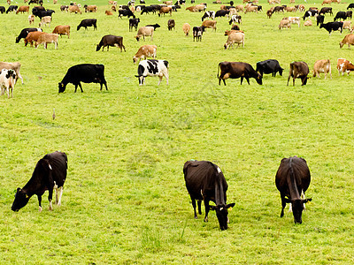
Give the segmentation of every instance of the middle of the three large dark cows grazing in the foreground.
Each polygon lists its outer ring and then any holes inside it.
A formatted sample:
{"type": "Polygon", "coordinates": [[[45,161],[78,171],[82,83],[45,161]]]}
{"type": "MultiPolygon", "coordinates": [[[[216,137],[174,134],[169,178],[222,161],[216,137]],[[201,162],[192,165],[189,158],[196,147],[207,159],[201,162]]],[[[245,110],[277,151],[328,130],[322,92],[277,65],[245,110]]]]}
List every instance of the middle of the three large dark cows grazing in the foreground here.
{"type": "Polygon", "coordinates": [[[215,210],[220,229],[227,230],[228,211],[235,203],[227,204],[227,180],[220,168],[209,161],[188,161],[183,166],[184,179],[196,216],[196,201],[198,213],[202,214],[202,201],[204,201],[205,217],[208,222],[209,210],[215,210]],[[215,206],[209,205],[213,201],[215,206]]]}

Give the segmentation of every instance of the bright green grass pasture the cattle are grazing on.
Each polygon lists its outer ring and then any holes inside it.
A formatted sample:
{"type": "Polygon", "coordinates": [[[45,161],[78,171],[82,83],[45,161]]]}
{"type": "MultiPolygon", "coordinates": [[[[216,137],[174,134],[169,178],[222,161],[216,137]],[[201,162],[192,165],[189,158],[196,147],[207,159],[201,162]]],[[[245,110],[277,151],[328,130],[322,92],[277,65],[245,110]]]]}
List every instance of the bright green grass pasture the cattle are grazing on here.
{"type": "MultiPolygon", "coordinates": [[[[45,32],[71,26],[70,39],[59,37],[57,50],[53,44],[48,49],[25,47],[23,40],[16,44],[20,30],[29,27],[27,13],[0,14],[0,60],[19,61],[25,82],[16,84],[13,99],[0,97],[1,264],[353,263],[354,76],[336,71],[337,58],[354,60],[354,49],[339,48],[347,30],[328,36],[313,18],[312,27],[302,20],[301,27],[279,30],[281,18],[304,12],[267,19],[270,5],[262,0],[262,12],[241,14],[243,49],[224,49],[227,18],[217,18],[217,32],[206,29],[202,42],[185,37],[183,23],[201,26],[203,12],[184,6],[173,12],[171,32],[169,15],[137,14],[139,27],[161,27],[153,41],[136,42],[127,18],[104,14],[107,1],[78,3],[97,4],[98,12],[69,14],[59,10],[67,1],[44,1],[56,11],[45,32]],[[97,30],[76,31],[81,19],[89,18],[97,19],[97,30]],[[113,47],[96,52],[105,34],[123,36],[127,52],[113,47]],[[158,59],[168,60],[170,85],[163,79],[157,86],[158,78],[148,77],[138,86],[132,58],[143,44],[157,45],[158,59]],[[245,81],[241,86],[240,79],[219,86],[219,62],[255,68],[269,58],[285,68],[282,77],[265,75],[262,86],[255,79],[250,86],[245,81]],[[304,87],[299,79],[295,87],[286,86],[291,62],[303,60],[312,70],[316,60],[327,58],[333,79],[321,74],[304,87]],[[83,83],[84,92],[73,93],[69,84],[58,94],[67,69],[83,63],[104,64],[109,90],[83,83]],[[42,213],[35,196],[12,212],[16,188],[55,150],[68,156],[62,206],[50,212],[46,192],[42,213]],[[288,207],[280,217],[274,185],[281,159],[292,155],[304,157],[312,174],[306,192],[312,203],[300,225],[288,207]],[[182,173],[189,159],[210,160],[223,170],[227,202],[235,202],[227,231],[219,230],[213,212],[208,223],[204,216],[193,218],[182,173]]],[[[208,10],[219,10],[219,4],[206,3],[208,10]]],[[[348,4],[331,6],[345,11],[348,4]]],[[[0,5],[8,6],[4,0],[0,5]]],[[[322,7],[313,0],[306,10],[310,6],[322,7]]],[[[326,15],[327,21],[333,17],[326,15]]],[[[38,23],[36,18],[35,27],[38,23]]]]}

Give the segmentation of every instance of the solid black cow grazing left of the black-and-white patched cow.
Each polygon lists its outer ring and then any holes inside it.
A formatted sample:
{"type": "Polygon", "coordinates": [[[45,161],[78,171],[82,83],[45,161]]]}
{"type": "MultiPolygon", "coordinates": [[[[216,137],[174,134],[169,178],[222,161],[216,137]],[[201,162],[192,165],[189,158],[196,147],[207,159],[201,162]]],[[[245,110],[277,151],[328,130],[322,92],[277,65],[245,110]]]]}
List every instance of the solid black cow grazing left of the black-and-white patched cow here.
{"type": "Polygon", "coordinates": [[[65,91],[68,83],[72,83],[75,86],[75,92],[78,86],[81,88],[81,92],[83,92],[81,82],[99,83],[101,85],[100,90],[102,90],[103,85],[108,90],[107,82],[104,79],[104,64],[73,65],[67,70],[64,79],[59,83],[59,93],[65,91]]]}

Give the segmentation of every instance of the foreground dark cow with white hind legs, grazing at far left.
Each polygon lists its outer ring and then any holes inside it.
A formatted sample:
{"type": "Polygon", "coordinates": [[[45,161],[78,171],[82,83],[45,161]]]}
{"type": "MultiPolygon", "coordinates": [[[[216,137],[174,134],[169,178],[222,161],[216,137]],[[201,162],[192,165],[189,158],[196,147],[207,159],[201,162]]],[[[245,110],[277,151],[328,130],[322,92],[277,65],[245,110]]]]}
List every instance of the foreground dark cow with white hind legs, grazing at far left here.
{"type": "Polygon", "coordinates": [[[12,211],[19,211],[27,205],[27,202],[33,195],[37,195],[39,202],[39,211],[42,211],[42,194],[49,191],[48,200],[50,201],[50,210],[53,209],[51,200],[53,188],[56,189],[56,204],[60,206],[63,186],[66,179],[67,156],[62,152],[54,152],[44,155],[35,166],[32,178],[21,189],[18,188],[15,200],[12,203],[12,211]],[[58,199],[59,195],[59,199],[58,199]]]}

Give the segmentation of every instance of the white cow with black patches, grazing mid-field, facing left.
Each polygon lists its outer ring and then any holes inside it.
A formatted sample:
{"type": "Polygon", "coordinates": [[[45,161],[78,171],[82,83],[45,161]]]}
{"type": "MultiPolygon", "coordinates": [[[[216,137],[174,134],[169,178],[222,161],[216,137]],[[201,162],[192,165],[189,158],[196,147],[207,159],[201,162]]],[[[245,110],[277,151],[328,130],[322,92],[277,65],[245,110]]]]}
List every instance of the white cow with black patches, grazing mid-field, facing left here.
{"type": "Polygon", "coordinates": [[[166,84],[168,85],[168,62],[166,60],[155,59],[140,61],[138,75],[135,75],[135,77],[139,79],[139,86],[145,84],[145,78],[147,76],[158,76],[158,85],[165,76],[166,84]]]}

